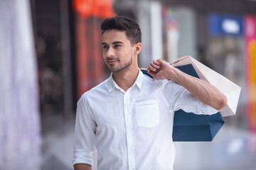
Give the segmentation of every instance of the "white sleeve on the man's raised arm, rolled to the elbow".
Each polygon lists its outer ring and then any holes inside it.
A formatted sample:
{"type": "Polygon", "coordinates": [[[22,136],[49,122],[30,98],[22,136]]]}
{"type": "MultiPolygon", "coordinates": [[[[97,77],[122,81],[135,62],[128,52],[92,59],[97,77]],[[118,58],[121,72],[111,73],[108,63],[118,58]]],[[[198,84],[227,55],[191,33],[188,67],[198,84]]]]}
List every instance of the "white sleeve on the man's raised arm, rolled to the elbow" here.
{"type": "Polygon", "coordinates": [[[166,84],[164,93],[165,96],[169,95],[167,103],[171,111],[178,111],[182,109],[187,113],[195,113],[198,115],[213,115],[218,113],[213,107],[210,107],[191,94],[183,86],[174,83],[173,81],[166,84]]]}

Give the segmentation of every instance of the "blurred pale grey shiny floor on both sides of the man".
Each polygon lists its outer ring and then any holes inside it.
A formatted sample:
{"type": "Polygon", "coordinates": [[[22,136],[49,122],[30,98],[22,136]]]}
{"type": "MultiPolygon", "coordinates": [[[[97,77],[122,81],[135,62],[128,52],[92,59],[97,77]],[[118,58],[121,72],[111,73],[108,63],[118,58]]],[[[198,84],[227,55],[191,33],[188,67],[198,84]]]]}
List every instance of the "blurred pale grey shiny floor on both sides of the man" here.
{"type": "MultiPolygon", "coordinates": [[[[42,170],[73,169],[74,123],[44,137],[42,170]]],[[[223,125],[213,142],[175,142],[175,170],[255,170],[256,134],[223,125]]]]}

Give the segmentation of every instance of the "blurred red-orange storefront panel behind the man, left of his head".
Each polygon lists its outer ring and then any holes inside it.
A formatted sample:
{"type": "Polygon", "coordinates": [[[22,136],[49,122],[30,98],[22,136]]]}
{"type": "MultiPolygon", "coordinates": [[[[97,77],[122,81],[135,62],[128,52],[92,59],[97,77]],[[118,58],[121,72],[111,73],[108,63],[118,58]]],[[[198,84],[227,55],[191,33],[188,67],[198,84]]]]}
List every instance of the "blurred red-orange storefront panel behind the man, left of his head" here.
{"type": "Polygon", "coordinates": [[[74,0],[77,98],[105,77],[100,24],[115,16],[112,0],[74,0]]]}

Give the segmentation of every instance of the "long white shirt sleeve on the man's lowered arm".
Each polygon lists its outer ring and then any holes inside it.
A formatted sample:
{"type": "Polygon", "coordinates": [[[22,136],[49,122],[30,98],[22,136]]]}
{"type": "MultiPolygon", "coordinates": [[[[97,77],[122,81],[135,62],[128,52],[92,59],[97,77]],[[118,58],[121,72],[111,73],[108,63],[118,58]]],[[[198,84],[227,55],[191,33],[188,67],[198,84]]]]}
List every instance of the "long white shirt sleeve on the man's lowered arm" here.
{"type": "Polygon", "coordinates": [[[74,136],[74,164],[92,165],[92,153],[95,152],[95,130],[96,123],[92,118],[90,106],[87,104],[85,95],[78,101],[75,120],[74,136]]]}

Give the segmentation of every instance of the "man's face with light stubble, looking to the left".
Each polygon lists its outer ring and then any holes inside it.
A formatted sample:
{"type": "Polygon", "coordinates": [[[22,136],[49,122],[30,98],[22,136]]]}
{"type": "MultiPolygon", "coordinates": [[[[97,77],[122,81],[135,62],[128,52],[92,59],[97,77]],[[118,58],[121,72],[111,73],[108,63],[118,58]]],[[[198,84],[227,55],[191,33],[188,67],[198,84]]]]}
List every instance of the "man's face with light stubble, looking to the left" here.
{"type": "MultiPolygon", "coordinates": [[[[134,62],[134,45],[125,31],[106,30],[102,35],[103,58],[111,72],[122,72],[134,62]]],[[[137,62],[137,61],[136,61],[137,62]]]]}

